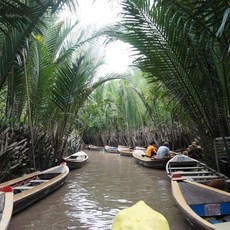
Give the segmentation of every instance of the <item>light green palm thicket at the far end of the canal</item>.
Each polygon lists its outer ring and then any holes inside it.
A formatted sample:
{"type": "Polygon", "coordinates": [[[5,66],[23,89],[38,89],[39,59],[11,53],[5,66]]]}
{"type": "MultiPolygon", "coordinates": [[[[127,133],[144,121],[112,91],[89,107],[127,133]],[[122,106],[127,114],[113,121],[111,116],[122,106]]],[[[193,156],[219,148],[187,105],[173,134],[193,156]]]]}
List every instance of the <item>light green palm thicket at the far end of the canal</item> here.
{"type": "MultiPolygon", "coordinates": [[[[97,145],[147,145],[166,140],[171,134],[172,144],[180,138],[186,127],[174,128],[170,112],[162,99],[149,100],[153,91],[140,71],[131,71],[127,79],[111,81],[90,96],[79,117],[86,127],[84,140],[97,145]],[[173,136],[174,134],[174,136],[173,136]]],[[[176,144],[177,148],[179,144],[176,144]]],[[[174,146],[173,146],[174,147],[174,146]]]]}

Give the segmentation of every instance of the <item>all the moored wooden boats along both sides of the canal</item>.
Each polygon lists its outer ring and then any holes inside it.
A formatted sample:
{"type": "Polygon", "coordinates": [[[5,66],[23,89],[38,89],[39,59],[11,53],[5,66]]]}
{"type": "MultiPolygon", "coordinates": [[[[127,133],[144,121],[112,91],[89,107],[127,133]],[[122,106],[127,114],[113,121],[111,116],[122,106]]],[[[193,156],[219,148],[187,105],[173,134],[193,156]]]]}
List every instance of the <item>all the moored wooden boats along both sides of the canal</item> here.
{"type": "MultiPolygon", "coordinates": [[[[101,150],[90,146],[91,150],[101,150]]],[[[230,193],[224,191],[229,178],[206,164],[183,154],[156,160],[145,157],[144,148],[105,146],[106,152],[132,156],[145,167],[164,169],[171,181],[173,197],[195,229],[230,229],[230,193]]],[[[6,230],[12,214],[18,213],[64,184],[70,169],[82,167],[88,155],[79,151],[45,171],[37,171],[0,184],[0,230],[6,230]]]]}

